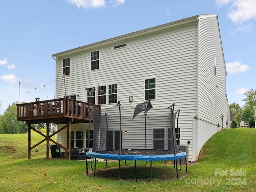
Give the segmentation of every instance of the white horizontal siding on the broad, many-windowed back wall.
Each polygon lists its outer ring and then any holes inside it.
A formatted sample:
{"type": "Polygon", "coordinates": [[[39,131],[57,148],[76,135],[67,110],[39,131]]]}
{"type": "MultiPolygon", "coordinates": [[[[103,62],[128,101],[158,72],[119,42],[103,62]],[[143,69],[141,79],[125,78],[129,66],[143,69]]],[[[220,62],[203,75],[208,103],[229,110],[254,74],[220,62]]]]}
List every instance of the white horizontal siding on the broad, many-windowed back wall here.
{"type": "MultiPolygon", "coordinates": [[[[86,101],[86,94],[82,88],[89,86],[97,89],[98,84],[102,86],[118,82],[118,100],[123,105],[135,107],[136,104],[144,102],[144,80],[154,76],[157,78],[157,100],[152,102],[153,107],[166,107],[175,103],[175,109],[181,109],[179,126],[184,137],[181,144],[187,144],[187,140],[190,140],[192,144],[192,117],[196,115],[197,96],[196,24],[189,24],[182,29],[176,28],[171,32],[164,30],[159,34],[145,35],[126,41],[129,46],[125,49],[113,50],[113,46],[105,46],[100,49],[100,70],[90,71],[90,63],[87,62],[90,61],[90,49],[72,55],[72,62],[76,65],[72,68],[70,81],[66,80],[67,92],[76,92],[79,94],[79,100],[86,101]],[[129,103],[128,96],[133,96],[134,101],[129,103]]],[[[57,78],[56,94],[58,98],[60,94],[64,93],[64,86],[62,76],[57,74],[57,78]]],[[[108,92],[106,92],[106,96],[108,96],[108,92]]],[[[97,96],[95,103],[98,103],[97,96]]],[[[108,107],[108,105],[110,104],[102,107],[108,107]]],[[[144,130],[133,131],[135,138],[144,138],[144,130]]],[[[151,134],[152,131],[149,130],[148,147],[152,147],[153,144],[151,134]]],[[[134,144],[133,139],[131,137],[128,142],[134,147],[144,147],[145,141],[141,140],[134,144]]],[[[126,144],[124,143],[123,146],[126,144]]]]}

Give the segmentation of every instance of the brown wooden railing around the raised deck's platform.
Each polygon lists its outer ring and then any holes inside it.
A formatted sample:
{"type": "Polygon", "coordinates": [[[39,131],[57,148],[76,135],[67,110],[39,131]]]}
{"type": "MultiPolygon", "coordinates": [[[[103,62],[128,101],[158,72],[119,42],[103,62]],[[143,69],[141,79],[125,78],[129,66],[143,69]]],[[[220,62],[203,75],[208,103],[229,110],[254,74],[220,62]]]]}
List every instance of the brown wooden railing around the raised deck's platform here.
{"type": "MultiPolygon", "coordinates": [[[[88,120],[88,110],[100,110],[100,106],[69,98],[17,104],[17,119],[21,121],[48,118],[76,118],[88,120]]],[[[91,117],[92,118],[92,117],[91,117]]]]}

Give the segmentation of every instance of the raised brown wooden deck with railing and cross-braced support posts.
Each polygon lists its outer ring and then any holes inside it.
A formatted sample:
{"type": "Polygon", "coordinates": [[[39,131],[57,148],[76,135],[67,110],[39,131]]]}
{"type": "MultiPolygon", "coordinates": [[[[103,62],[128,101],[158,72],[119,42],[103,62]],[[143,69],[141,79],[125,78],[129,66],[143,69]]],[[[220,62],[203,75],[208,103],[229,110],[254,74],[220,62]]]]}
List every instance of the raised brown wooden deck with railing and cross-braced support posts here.
{"type": "Polygon", "coordinates": [[[49,142],[53,142],[60,148],[66,151],[66,159],[70,160],[71,151],[71,124],[72,123],[86,123],[92,119],[88,111],[100,112],[100,106],[90,104],[69,98],[60,98],[45,101],[36,101],[31,103],[17,104],[17,119],[19,121],[26,121],[28,125],[28,159],[31,158],[31,150],[36,146],[46,141],[46,158],[50,158],[49,142]],[[31,124],[46,123],[46,135],[42,134],[31,124]],[[50,123],[66,124],[62,128],[59,128],[56,132],[50,135],[50,123]],[[34,130],[38,134],[42,135],[44,139],[34,146],[31,146],[31,130],[34,130]],[[67,130],[68,143],[67,146],[51,139],[62,130],[67,130]]]}

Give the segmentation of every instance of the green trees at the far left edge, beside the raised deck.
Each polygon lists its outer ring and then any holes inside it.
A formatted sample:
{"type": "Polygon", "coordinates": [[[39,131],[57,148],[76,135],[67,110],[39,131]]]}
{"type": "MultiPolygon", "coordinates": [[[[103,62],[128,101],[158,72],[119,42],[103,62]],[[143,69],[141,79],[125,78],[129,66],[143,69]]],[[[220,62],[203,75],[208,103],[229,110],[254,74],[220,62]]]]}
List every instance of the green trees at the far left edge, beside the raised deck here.
{"type": "Polygon", "coordinates": [[[28,126],[17,120],[17,104],[12,103],[0,118],[0,133],[26,133],[28,126]]]}

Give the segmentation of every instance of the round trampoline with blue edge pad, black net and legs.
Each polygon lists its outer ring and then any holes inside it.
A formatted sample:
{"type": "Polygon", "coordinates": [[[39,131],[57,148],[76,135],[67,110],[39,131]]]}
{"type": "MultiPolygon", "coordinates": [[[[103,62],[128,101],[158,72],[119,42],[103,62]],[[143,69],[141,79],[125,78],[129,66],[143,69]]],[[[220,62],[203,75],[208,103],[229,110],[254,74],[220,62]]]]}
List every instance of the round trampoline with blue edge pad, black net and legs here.
{"type": "MultiPolygon", "coordinates": [[[[107,160],[118,160],[118,177],[120,180],[120,161],[123,160],[125,162],[126,160],[134,161],[136,182],[137,161],[145,161],[146,164],[150,162],[150,180],[152,180],[152,161],[166,162],[168,160],[174,160],[177,178],[184,178],[187,175],[186,152],[179,150],[179,138],[178,145],[176,142],[176,136],[179,135],[179,132],[178,134],[175,132],[175,120],[177,114],[176,122],[178,127],[180,110],[174,112],[174,104],[164,109],[150,110],[151,108],[153,108],[152,104],[150,101],[147,101],[137,105],[135,109],[122,106],[120,102],[118,102],[116,106],[101,111],[88,110],[93,116],[94,132],[92,151],[89,151],[88,148],[86,156],[92,158],[91,168],[94,170],[94,176],[96,174],[96,159],[98,158],[106,160],[106,167],[107,160]],[[143,114],[141,114],[141,112],[143,112],[143,114]],[[127,135],[127,133],[133,132],[138,132],[139,134],[127,135]],[[155,138],[153,142],[152,135],[154,135],[153,138],[155,138]],[[165,140],[162,139],[163,136],[165,140]],[[115,139],[118,142],[115,142],[115,139]],[[141,142],[142,140],[144,140],[144,142],[141,142]],[[143,148],[132,148],[132,146],[140,146],[143,148]],[[182,158],[184,158],[186,162],[186,173],[184,176],[179,177],[178,171],[182,169],[182,158]],[[180,160],[180,168],[178,168],[178,160],[180,160]]],[[[90,137],[91,136],[88,135],[87,138],[90,137]]],[[[87,175],[89,175],[89,167],[89,161],[86,159],[87,175]]]]}

